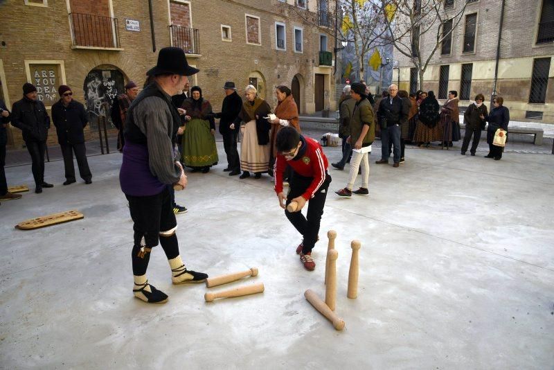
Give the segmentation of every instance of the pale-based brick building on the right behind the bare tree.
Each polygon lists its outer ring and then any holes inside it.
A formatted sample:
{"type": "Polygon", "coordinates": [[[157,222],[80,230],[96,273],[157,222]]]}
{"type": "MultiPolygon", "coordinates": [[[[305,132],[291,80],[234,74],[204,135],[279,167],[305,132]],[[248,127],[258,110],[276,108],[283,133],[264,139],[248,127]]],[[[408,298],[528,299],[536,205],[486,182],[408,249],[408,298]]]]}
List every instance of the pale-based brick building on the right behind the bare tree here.
{"type": "MultiPolygon", "coordinates": [[[[492,96],[496,74],[496,93],[504,98],[512,119],[554,123],[554,1],[505,0],[497,65],[502,3],[467,3],[452,39],[438,47],[427,67],[423,89],[434,90],[442,101],[448,90],[456,90],[460,106],[467,106],[476,94],[492,96]]],[[[444,4],[452,6],[447,10],[452,15],[463,7],[461,0],[444,4]]],[[[436,45],[433,38],[440,26],[434,27],[420,38],[425,58],[436,45]]],[[[413,64],[398,51],[395,60],[400,68],[395,69],[393,81],[400,80],[400,89],[415,91],[418,77],[413,64]]]]}

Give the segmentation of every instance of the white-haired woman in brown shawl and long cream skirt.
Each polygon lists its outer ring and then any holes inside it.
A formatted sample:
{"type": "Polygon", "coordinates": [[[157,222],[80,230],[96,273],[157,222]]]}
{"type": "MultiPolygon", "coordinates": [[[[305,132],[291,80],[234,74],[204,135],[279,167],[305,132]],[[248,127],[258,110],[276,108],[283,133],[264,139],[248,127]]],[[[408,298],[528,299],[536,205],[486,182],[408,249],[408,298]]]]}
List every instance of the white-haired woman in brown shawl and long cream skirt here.
{"type": "Polygon", "coordinates": [[[235,122],[231,125],[231,130],[235,125],[244,122],[240,127],[242,132],[242,143],[240,145],[240,168],[242,175],[240,179],[250,177],[250,173],[255,174],[255,178],[262,177],[262,173],[267,172],[269,165],[269,130],[271,123],[267,117],[271,112],[271,107],[262,98],[258,98],[258,90],[252,85],[244,89],[247,98],[242,103],[242,109],[235,122]]]}

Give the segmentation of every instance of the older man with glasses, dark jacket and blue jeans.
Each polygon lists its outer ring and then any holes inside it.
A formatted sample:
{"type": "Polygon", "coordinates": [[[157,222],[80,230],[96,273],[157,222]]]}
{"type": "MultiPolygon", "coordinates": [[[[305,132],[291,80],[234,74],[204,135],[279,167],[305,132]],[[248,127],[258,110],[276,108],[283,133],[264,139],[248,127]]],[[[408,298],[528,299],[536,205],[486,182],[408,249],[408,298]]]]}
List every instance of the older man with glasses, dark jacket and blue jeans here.
{"type": "Polygon", "coordinates": [[[381,127],[381,159],[376,164],[388,164],[389,141],[394,146],[394,167],[400,166],[400,125],[408,121],[409,107],[402,102],[398,87],[388,87],[388,97],[382,98],[377,110],[377,119],[381,127]]]}

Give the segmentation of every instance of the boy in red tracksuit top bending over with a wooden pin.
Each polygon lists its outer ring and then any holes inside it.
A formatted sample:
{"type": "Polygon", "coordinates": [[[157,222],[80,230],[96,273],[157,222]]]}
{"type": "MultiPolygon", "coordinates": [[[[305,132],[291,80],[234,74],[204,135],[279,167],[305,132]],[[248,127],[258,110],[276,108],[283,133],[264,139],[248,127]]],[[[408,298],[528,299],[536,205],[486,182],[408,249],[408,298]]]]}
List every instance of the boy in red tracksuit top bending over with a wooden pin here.
{"type": "Polygon", "coordinates": [[[303,236],[302,243],[296,248],[300,261],[306,270],[316,267],[312,259],[312,249],[317,241],[321,215],[331,177],[327,173],[329,163],[323,149],[317,141],[304,137],[294,127],[283,127],[277,134],[276,148],[278,155],[274,165],[275,192],[279,205],[285,209],[285,215],[292,225],[303,236]],[[283,173],[287,165],[293,170],[289,178],[289,193],[283,193],[283,173]],[[285,203],[286,200],[286,203],[285,203]],[[306,202],[306,217],[301,210],[306,202]],[[287,211],[290,202],[297,202],[295,212],[287,211]]]}

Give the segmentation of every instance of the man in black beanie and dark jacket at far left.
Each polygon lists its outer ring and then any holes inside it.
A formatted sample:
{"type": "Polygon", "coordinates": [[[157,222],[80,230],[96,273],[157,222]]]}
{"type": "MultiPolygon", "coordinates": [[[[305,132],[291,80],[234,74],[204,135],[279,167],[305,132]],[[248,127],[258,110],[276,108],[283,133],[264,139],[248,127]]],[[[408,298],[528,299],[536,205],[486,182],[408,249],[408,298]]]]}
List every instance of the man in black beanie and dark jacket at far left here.
{"type": "Polygon", "coordinates": [[[50,117],[42,101],[37,100],[37,88],[29,82],[23,85],[23,98],[12,105],[12,125],[23,132],[23,140],[33,161],[35,193],[42,193],[42,188],[52,188],[52,184],[44,182],[44,152],[50,117]]]}

